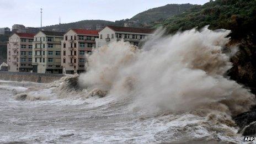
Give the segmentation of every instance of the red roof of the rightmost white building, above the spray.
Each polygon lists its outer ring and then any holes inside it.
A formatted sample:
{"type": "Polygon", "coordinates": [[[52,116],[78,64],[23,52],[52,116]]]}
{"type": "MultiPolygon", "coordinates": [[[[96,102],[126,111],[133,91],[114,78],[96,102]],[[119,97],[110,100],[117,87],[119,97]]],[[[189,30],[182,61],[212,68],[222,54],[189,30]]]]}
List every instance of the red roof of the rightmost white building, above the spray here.
{"type": "Polygon", "coordinates": [[[123,31],[130,33],[146,33],[151,34],[154,32],[154,29],[145,29],[145,28],[131,28],[131,27],[122,27],[122,26],[107,26],[114,31],[123,31]]]}

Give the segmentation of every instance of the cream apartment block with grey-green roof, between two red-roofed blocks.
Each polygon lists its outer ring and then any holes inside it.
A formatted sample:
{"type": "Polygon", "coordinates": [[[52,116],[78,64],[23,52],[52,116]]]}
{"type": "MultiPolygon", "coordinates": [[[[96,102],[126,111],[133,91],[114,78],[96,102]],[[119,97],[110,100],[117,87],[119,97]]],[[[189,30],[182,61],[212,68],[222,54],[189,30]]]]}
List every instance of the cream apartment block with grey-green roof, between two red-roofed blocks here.
{"type": "Polygon", "coordinates": [[[33,41],[33,72],[62,73],[61,41],[62,32],[41,30],[33,41]]]}

